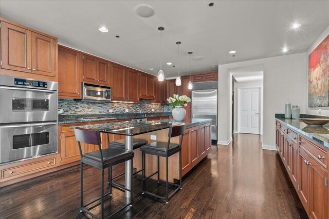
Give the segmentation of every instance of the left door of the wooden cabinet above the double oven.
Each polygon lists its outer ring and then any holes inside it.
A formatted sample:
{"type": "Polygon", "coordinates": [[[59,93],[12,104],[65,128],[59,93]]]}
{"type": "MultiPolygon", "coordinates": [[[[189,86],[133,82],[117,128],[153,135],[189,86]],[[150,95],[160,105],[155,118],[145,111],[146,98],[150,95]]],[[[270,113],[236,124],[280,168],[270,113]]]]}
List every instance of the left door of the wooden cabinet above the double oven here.
{"type": "Polygon", "coordinates": [[[31,31],[1,22],[3,69],[31,72],[31,31]]]}

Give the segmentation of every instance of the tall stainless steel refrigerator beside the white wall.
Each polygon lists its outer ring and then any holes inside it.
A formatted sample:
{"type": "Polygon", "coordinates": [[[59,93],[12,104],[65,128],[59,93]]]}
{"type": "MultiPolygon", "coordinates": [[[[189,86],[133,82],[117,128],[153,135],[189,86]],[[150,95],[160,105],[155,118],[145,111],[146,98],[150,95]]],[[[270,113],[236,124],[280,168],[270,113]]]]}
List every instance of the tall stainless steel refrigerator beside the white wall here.
{"type": "Polygon", "coordinates": [[[217,140],[217,82],[193,83],[192,118],[211,118],[211,139],[217,140]]]}

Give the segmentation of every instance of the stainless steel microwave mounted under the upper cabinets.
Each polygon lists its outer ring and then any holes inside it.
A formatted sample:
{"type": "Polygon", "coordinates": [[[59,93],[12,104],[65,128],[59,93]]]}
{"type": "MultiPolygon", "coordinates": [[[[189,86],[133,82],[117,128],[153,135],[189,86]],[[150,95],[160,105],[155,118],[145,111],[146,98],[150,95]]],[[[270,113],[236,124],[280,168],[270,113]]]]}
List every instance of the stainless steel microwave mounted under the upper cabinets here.
{"type": "Polygon", "coordinates": [[[82,83],[82,99],[86,101],[111,101],[111,87],[82,83]]]}

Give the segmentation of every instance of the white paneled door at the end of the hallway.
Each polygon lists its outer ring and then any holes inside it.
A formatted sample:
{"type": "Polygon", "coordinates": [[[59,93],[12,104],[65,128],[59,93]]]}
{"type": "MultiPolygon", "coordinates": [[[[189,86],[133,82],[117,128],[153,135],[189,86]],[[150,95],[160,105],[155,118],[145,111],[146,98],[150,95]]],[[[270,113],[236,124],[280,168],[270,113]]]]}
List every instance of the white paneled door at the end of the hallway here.
{"type": "Polygon", "coordinates": [[[260,134],[260,88],[239,88],[238,132],[260,134]]]}

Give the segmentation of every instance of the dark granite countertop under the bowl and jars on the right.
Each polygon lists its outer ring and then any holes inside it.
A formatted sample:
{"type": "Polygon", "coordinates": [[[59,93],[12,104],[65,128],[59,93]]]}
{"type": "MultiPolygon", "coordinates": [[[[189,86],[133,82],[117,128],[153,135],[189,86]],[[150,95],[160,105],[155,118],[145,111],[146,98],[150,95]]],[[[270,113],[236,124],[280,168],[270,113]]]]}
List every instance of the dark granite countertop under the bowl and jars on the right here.
{"type": "MultiPolygon", "coordinates": [[[[328,118],[326,116],[316,116],[316,115],[306,115],[301,114],[301,118],[328,118]]],[[[282,116],[282,114],[276,114],[276,119],[285,123],[285,125],[300,133],[303,134],[319,144],[329,148],[329,124],[324,126],[316,127],[316,126],[308,126],[298,119],[287,119],[282,116]]]]}

